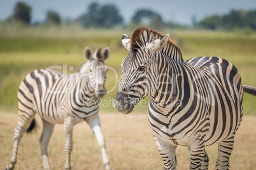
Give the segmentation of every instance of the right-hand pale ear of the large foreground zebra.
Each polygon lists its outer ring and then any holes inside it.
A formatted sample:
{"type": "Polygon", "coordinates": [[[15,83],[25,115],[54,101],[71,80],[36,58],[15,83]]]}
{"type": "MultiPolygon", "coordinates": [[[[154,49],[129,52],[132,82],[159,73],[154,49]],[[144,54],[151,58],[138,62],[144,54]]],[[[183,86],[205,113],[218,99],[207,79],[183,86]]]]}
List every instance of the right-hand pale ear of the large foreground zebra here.
{"type": "Polygon", "coordinates": [[[169,37],[170,37],[170,34],[166,34],[161,39],[156,39],[155,41],[150,42],[149,44],[146,44],[146,49],[150,51],[150,53],[153,53],[155,51],[160,51],[166,45],[169,37]]]}

